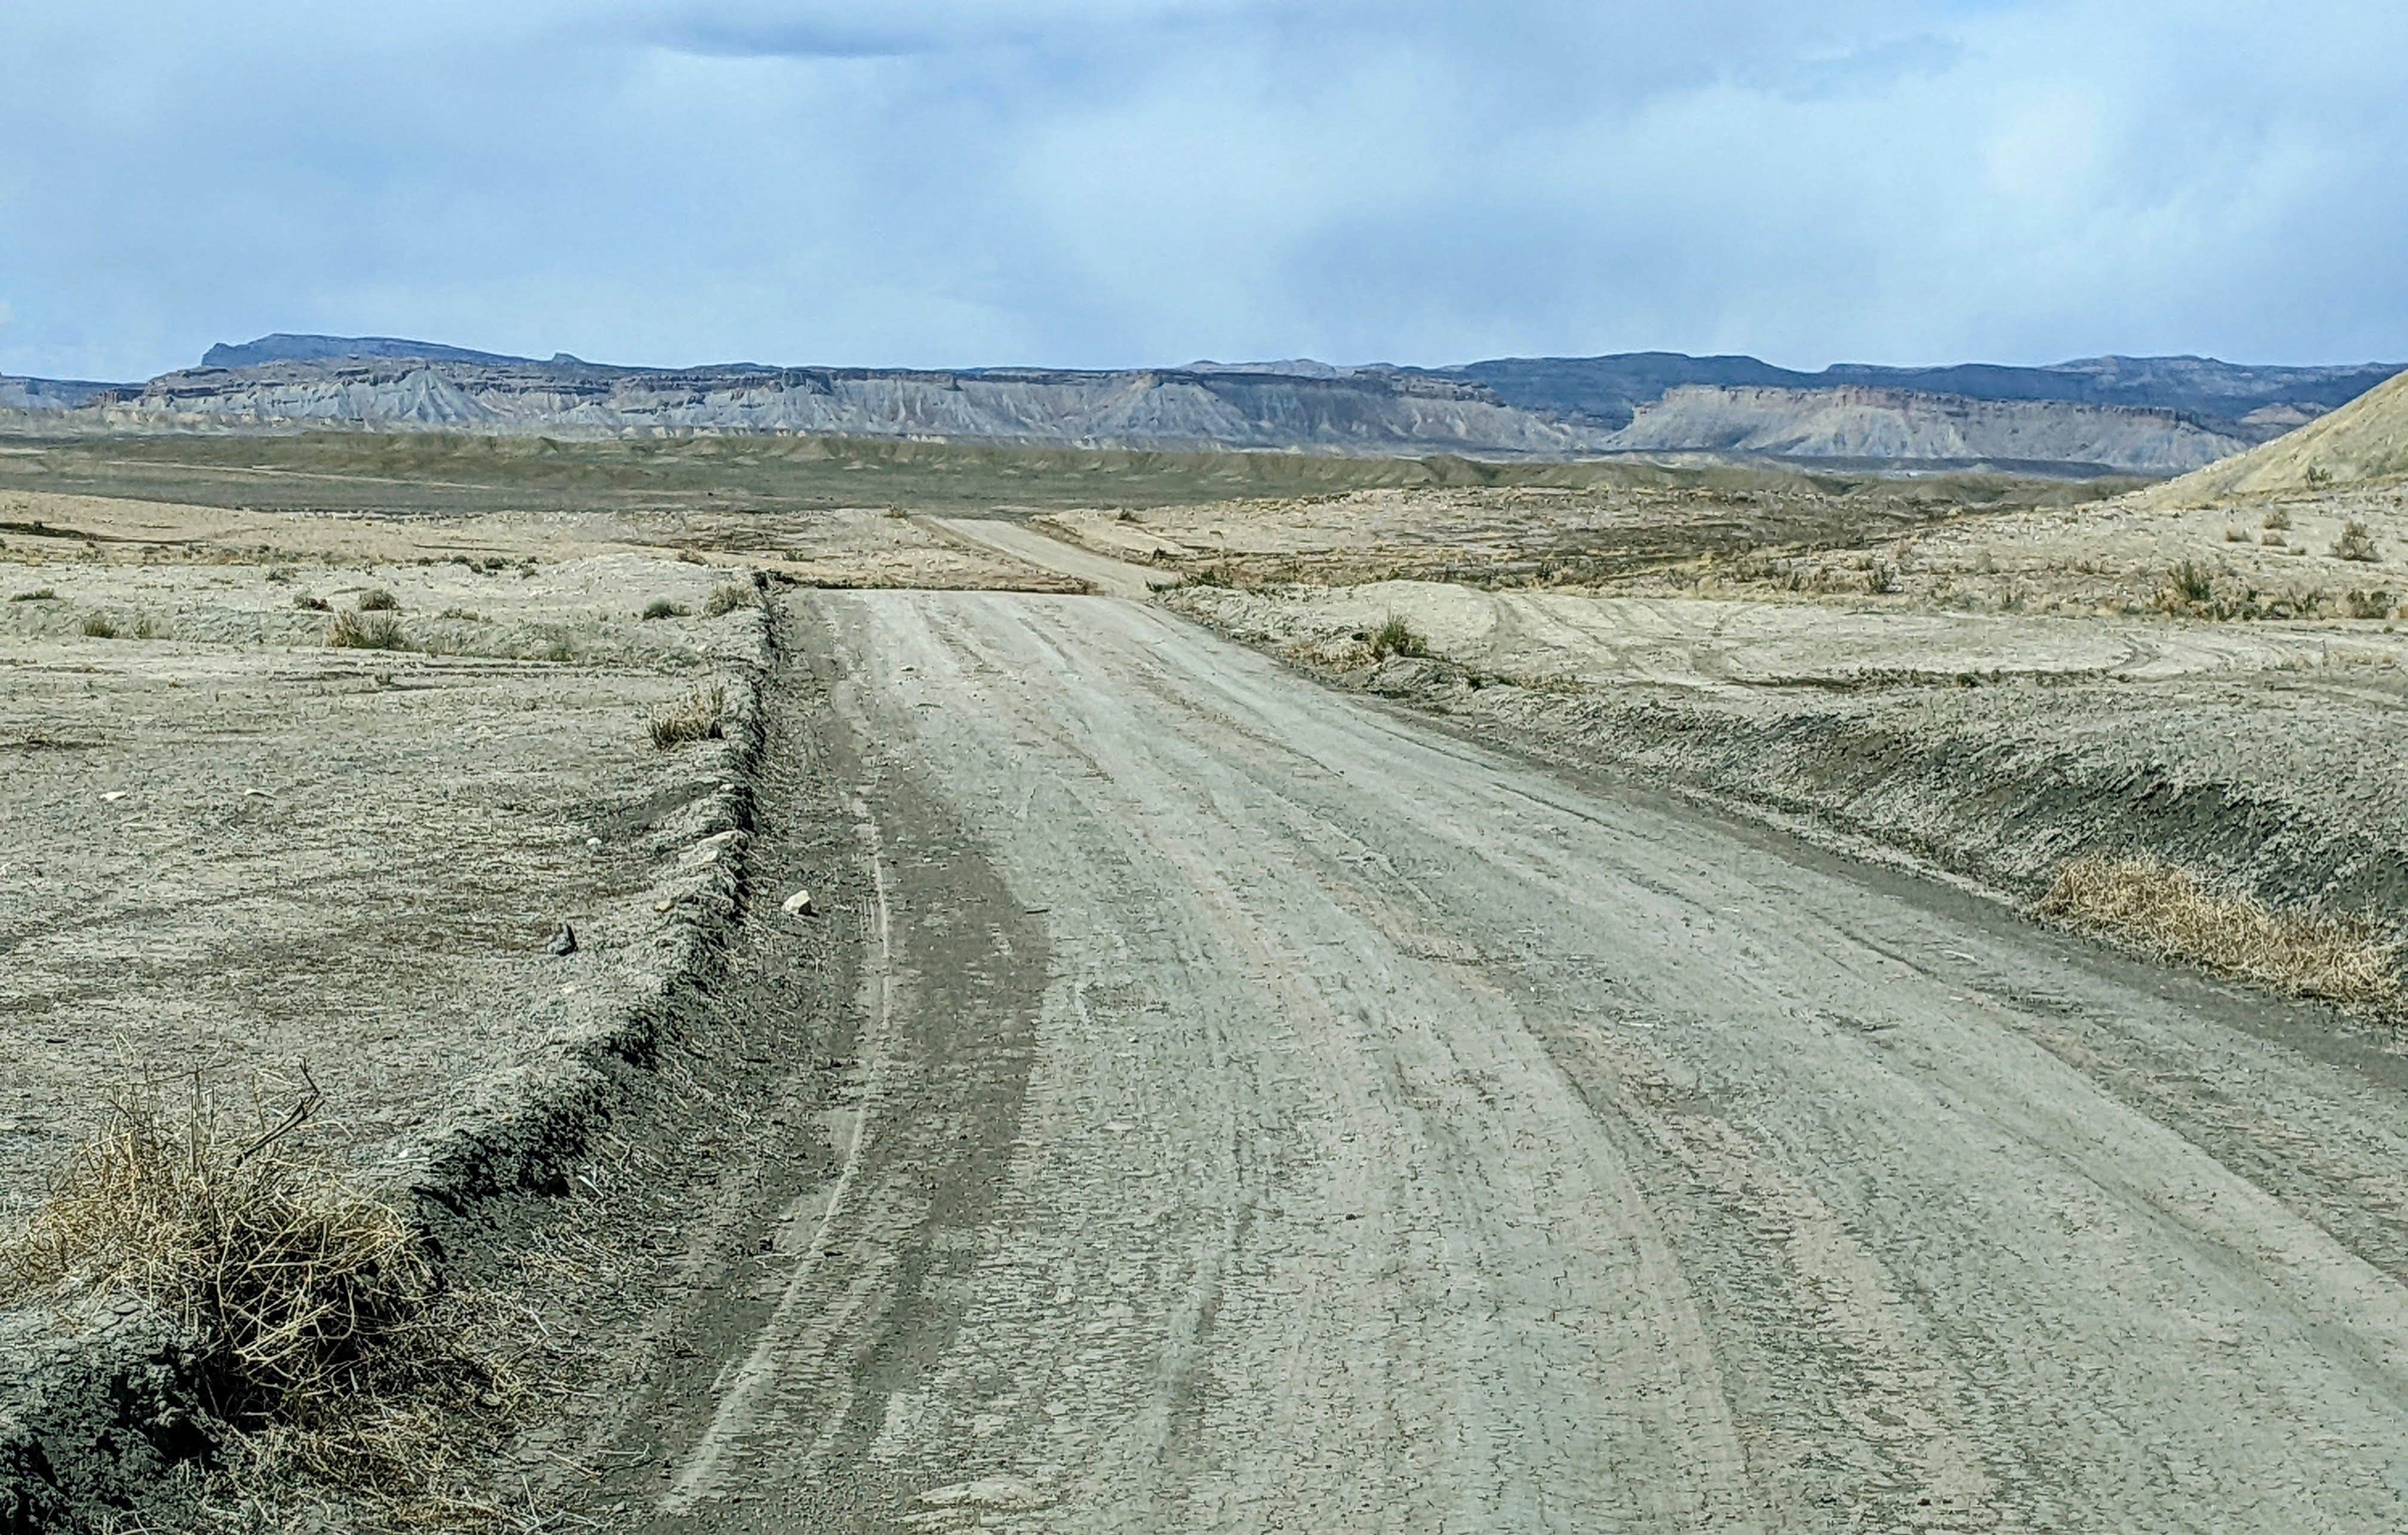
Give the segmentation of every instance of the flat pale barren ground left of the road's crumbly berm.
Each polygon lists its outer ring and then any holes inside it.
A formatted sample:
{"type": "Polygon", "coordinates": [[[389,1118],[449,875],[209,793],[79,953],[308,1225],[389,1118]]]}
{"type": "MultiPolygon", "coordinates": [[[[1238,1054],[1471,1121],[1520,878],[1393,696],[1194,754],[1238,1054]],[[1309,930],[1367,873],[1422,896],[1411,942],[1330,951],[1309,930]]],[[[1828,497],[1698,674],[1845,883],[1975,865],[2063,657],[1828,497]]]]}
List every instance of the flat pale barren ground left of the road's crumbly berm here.
{"type": "Polygon", "coordinates": [[[648,713],[742,648],[715,574],[600,557],[465,566],[0,564],[0,1219],[116,1084],[209,1070],[234,1094],[306,1063],[380,1176],[503,1092],[542,1041],[626,1005],[677,848],[662,814],[715,771],[648,713]],[[291,593],[383,586],[491,653],[344,651],[291,593]],[[87,639],[77,614],[130,634],[87,639]],[[556,636],[568,663],[515,658],[556,636]],[[580,952],[544,954],[559,923],[580,952]]]}

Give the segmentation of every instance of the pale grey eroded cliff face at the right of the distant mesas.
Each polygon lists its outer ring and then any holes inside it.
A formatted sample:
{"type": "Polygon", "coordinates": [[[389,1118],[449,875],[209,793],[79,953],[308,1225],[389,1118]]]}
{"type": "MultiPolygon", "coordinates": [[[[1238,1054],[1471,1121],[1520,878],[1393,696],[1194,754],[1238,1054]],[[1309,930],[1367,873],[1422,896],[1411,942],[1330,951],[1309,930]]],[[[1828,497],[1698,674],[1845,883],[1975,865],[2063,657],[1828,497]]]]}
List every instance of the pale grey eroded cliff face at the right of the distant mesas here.
{"type": "Polygon", "coordinates": [[[1893,463],[2078,465],[2165,472],[2247,443],[2172,410],[1967,400],[1895,388],[1688,386],[1640,407],[1618,451],[1765,453],[1893,463]]]}

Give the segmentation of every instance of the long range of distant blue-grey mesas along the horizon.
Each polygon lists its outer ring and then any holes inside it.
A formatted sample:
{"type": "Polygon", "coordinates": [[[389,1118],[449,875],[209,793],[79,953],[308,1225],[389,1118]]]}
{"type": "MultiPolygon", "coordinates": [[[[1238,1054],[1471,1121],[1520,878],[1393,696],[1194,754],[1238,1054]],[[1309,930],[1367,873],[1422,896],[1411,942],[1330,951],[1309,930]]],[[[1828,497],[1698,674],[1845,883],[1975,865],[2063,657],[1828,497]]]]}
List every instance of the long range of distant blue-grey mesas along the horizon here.
{"type": "Polygon", "coordinates": [[[1445,369],[1199,359],[1168,369],[650,369],[390,335],[262,335],[142,386],[0,381],[39,429],[775,431],[1031,446],[1681,458],[1847,470],[2184,475],[2316,427],[2389,364],[2085,357],[1782,369],[1758,357],[1495,357],[1445,369]]]}

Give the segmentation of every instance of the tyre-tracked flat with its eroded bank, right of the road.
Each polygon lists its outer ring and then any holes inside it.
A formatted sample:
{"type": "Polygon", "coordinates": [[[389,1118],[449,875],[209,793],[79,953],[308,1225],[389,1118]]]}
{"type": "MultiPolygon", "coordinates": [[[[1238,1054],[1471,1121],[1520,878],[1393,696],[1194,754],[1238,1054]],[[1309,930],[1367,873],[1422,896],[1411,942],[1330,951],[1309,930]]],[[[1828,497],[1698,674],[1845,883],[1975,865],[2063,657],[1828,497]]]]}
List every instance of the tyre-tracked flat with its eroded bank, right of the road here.
{"type": "Polygon", "coordinates": [[[2408,913],[2408,672],[2391,636],[1926,617],[1967,634],[1926,636],[1950,643],[1910,675],[1845,612],[1560,598],[1594,622],[1517,610],[1474,634],[1454,607],[1498,598],[1428,590],[1165,600],[1541,757],[1621,766],[2015,899],[2068,858],[2155,853],[2271,904],[2386,925],[2408,913]],[[1748,622],[1702,612],[1722,607],[1748,622]],[[1375,612],[1404,617],[1430,655],[1373,658],[1356,636],[1375,612]],[[1782,631],[1784,614],[1816,631],[1782,631]]]}

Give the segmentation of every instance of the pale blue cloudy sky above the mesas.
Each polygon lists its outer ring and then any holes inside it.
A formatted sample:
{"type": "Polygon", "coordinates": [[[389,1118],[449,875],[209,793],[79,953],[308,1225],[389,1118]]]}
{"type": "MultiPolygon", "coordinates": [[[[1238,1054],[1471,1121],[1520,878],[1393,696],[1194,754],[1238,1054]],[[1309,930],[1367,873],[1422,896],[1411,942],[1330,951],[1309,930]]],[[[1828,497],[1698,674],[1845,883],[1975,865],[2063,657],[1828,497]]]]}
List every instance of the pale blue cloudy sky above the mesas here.
{"type": "Polygon", "coordinates": [[[0,371],[2408,359],[2398,0],[0,0],[0,371]]]}

